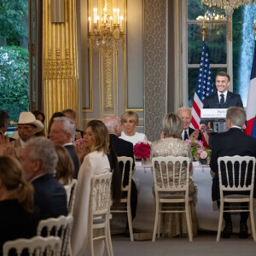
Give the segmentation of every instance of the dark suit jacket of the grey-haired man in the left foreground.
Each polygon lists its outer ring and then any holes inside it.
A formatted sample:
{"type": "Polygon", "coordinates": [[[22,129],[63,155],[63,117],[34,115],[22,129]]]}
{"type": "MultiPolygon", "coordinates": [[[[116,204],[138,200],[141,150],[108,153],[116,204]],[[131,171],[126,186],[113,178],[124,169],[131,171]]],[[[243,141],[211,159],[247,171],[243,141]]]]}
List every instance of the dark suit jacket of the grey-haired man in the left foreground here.
{"type": "Polygon", "coordinates": [[[64,187],[52,174],[45,174],[32,181],[35,206],[39,219],[67,215],[67,194],[64,187]]]}

